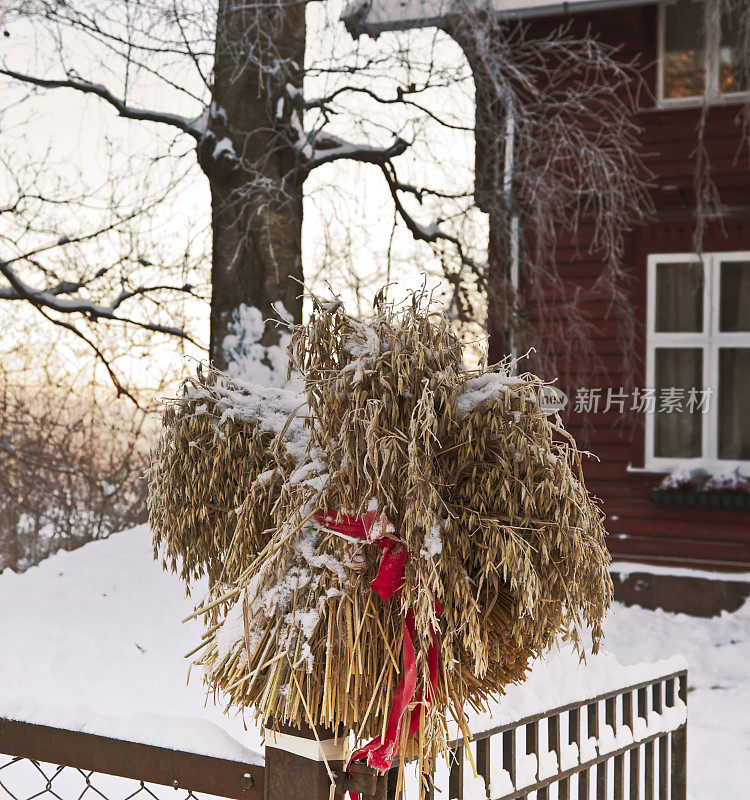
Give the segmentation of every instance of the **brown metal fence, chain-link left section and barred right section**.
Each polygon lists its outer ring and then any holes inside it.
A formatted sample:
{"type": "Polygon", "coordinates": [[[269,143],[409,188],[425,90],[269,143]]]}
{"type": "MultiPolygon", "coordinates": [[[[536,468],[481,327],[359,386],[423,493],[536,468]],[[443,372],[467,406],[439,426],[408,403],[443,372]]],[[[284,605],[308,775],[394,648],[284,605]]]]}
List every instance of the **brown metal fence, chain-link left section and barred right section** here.
{"type": "MultiPolygon", "coordinates": [[[[450,766],[428,780],[429,800],[686,800],[687,673],[500,725],[474,735],[469,750],[453,743],[450,766]]],[[[3,753],[0,800],[295,794],[293,776],[274,779],[262,766],[6,719],[3,753]]],[[[392,797],[393,778],[378,781],[379,800],[392,797]]],[[[319,785],[305,800],[329,800],[327,779],[319,785]]]]}

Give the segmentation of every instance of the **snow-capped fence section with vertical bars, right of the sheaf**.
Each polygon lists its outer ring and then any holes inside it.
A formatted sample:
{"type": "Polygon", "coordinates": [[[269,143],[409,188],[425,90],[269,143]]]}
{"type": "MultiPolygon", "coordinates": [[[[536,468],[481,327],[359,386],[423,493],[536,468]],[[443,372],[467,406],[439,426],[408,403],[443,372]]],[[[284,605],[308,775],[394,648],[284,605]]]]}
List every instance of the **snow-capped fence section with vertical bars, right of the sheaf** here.
{"type": "MultiPolygon", "coordinates": [[[[453,744],[448,786],[433,782],[430,800],[436,788],[464,800],[472,768],[453,744]]],[[[687,672],[498,726],[469,746],[490,800],[685,800],[687,672]]]]}

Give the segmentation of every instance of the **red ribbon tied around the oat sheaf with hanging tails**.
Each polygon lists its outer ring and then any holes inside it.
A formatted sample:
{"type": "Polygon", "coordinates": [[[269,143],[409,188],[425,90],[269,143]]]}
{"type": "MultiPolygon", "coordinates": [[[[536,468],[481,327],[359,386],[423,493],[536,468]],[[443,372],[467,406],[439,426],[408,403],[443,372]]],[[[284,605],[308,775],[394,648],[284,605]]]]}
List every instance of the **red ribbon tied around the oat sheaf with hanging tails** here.
{"type": "MultiPolygon", "coordinates": [[[[382,518],[376,511],[368,511],[362,517],[352,517],[348,514],[339,514],[326,511],[318,512],[315,515],[317,522],[336,533],[344,536],[351,536],[354,539],[365,539],[370,543],[376,544],[382,551],[378,574],[370,582],[370,588],[383,600],[388,600],[401,591],[404,582],[404,569],[409,559],[406,547],[398,541],[388,539],[383,534],[382,518]],[[337,516],[339,519],[337,520],[337,516]]],[[[440,614],[442,608],[435,601],[435,611],[440,614]]],[[[396,692],[391,701],[391,708],[388,713],[388,720],[385,727],[385,736],[375,737],[371,742],[355,750],[346,765],[347,774],[355,761],[367,761],[367,764],[379,772],[390,769],[393,759],[396,756],[398,743],[401,734],[401,725],[404,716],[412,700],[417,704],[430,704],[437,688],[437,674],[439,664],[439,651],[437,646],[437,636],[433,629],[430,633],[430,645],[427,650],[427,666],[430,673],[430,685],[428,687],[428,697],[423,697],[422,690],[414,698],[414,691],[417,683],[417,660],[414,649],[414,642],[417,632],[414,627],[414,612],[409,609],[403,617],[403,637],[401,642],[401,660],[403,671],[396,687],[396,692]]],[[[419,730],[418,713],[411,714],[409,722],[409,735],[417,733],[419,730]]],[[[359,800],[356,792],[351,792],[353,800],[359,800]]]]}

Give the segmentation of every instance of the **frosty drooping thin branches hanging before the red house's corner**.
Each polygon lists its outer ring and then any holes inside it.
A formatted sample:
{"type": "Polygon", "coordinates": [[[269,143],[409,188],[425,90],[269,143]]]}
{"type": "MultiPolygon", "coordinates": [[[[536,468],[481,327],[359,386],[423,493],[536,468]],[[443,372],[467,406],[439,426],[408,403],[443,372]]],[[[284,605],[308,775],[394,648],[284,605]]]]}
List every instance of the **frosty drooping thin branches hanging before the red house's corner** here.
{"type": "Polygon", "coordinates": [[[557,271],[556,246],[573,240],[597,254],[601,272],[592,293],[624,311],[621,335],[629,342],[624,234],[652,210],[633,120],[637,66],[620,63],[615,48],[592,37],[560,28],[529,39],[524,26],[496,16],[481,28],[461,20],[454,35],[480,93],[477,194],[491,219],[480,279],[490,359],[543,342],[537,368],[580,380],[593,365],[591,331],[580,310],[584,298],[557,271]]]}

